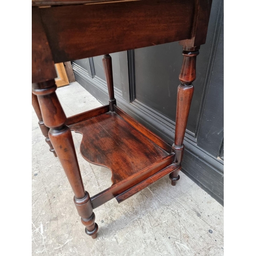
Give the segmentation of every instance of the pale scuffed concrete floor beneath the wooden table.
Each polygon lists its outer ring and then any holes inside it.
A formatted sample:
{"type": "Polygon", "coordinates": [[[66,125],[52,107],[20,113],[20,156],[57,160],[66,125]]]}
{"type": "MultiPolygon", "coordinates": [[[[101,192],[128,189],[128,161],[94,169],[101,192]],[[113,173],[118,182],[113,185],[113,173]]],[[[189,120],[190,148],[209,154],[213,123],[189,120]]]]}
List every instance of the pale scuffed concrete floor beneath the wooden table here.
{"type": "MultiPolygon", "coordinates": [[[[67,116],[101,105],[76,82],[57,95],[67,116]]],[[[165,176],[121,204],[113,199],[96,208],[98,237],[88,237],[37,121],[32,109],[32,255],[223,255],[223,207],[183,173],[175,187],[165,176]]],[[[72,134],[84,187],[93,196],[111,185],[111,172],[86,162],[82,135],[72,134]]]]}

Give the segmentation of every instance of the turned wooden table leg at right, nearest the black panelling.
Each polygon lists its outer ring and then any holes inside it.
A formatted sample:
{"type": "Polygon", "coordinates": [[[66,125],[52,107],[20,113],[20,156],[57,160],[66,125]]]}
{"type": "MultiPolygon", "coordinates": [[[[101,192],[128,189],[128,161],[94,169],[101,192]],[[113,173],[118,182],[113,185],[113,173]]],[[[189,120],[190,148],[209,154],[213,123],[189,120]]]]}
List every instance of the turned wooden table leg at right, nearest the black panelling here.
{"type": "MultiPolygon", "coordinates": [[[[184,152],[184,136],[186,131],[187,119],[191,100],[194,92],[192,82],[196,79],[196,59],[199,54],[200,47],[184,47],[183,63],[179,79],[181,81],[178,87],[177,110],[176,110],[176,126],[175,140],[173,144],[173,152],[175,153],[175,164],[181,165],[184,152]]],[[[175,186],[180,179],[180,170],[176,170],[169,174],[172,185],[175,186]]]]}

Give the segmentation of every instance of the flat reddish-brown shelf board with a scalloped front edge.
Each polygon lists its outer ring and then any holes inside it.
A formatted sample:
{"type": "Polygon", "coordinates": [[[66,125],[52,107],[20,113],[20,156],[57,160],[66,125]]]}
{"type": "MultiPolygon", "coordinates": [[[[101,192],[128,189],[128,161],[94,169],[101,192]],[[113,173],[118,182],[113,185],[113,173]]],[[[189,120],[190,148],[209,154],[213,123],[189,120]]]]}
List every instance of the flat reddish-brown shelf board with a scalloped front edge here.
{"type": "Polygon", "coordinates": [[[84,135],[81,155],[92,163],[110,168],[113,184],[168,155],[116,113],[102,114],[70,128],[84,135]]]}

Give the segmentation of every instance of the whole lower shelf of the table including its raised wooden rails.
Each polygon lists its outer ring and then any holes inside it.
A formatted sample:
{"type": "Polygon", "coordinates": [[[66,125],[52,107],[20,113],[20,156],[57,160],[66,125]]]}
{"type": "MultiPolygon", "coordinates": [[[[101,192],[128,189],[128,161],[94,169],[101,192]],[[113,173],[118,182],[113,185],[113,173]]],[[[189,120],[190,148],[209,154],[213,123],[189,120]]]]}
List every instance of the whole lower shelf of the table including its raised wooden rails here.
{"type": "Polygon", "coordinates": [[[113,185],[91,198],[94,208],[114,197],[121,202],[180,167],[171,145],[117,106],[115,112],[102,106],[76,115],[68,125],[83,135],[83,158],[112,172],[113,185]]]}

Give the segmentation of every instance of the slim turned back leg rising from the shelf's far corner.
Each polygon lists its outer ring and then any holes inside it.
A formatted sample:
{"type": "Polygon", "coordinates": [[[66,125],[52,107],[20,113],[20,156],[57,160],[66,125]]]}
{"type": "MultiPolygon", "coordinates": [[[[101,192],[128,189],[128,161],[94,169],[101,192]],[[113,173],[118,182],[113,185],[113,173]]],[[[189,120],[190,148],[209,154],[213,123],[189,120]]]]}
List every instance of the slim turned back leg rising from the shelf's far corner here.
{"type": "Polygon", "coordinates": [[[109,54],[105,54],[102,58],[103,68],[106,76],[106,84],[109,91],[109,103],[110,111],[114,111],[114,105],[116,105],[116,99],[114,96],[114,82],[113,82],[113,70],[112,70],[112,58],[109,54]]]}

